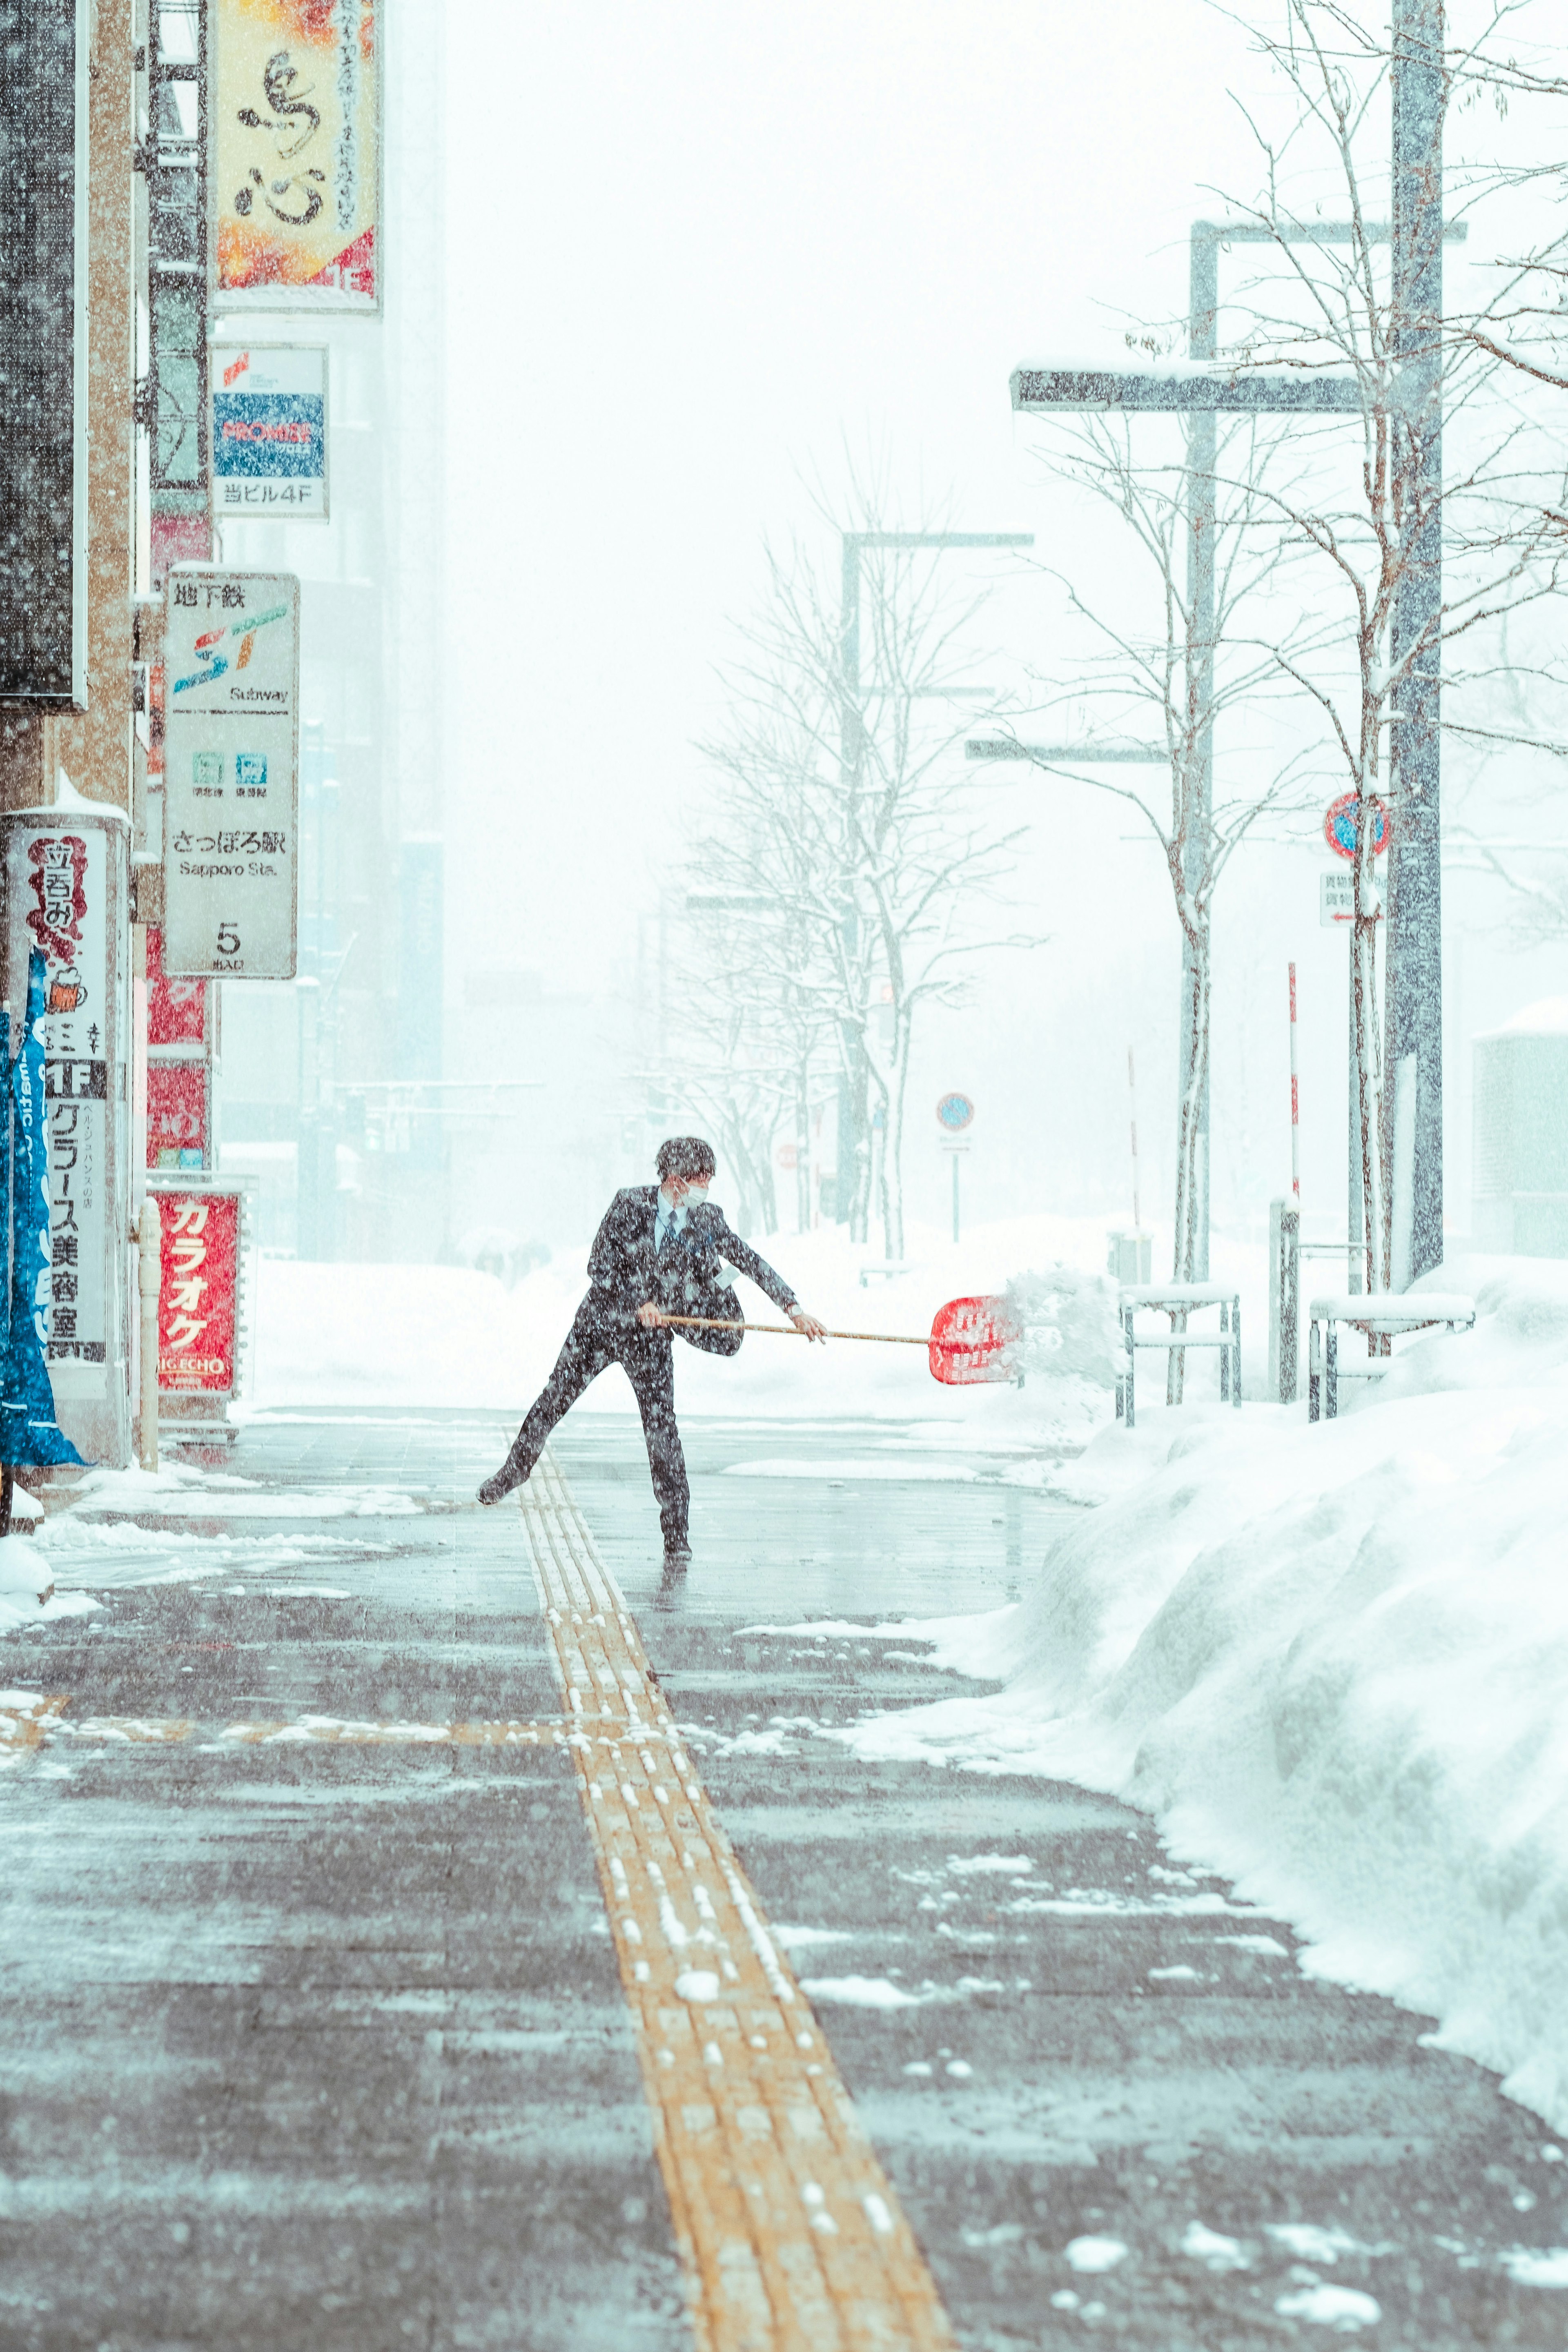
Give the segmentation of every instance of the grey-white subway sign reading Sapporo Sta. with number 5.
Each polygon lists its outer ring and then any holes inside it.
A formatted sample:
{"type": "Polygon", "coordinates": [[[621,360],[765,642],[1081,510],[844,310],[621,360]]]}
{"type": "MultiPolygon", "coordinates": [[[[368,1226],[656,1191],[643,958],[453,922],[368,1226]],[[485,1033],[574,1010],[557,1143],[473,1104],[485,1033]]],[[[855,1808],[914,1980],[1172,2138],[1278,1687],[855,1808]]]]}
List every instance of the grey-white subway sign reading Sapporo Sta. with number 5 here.
{"type": "Polygon", "coordinates": [[[162,969],[292,981],[299,581],[169,572],[162,969]]]}

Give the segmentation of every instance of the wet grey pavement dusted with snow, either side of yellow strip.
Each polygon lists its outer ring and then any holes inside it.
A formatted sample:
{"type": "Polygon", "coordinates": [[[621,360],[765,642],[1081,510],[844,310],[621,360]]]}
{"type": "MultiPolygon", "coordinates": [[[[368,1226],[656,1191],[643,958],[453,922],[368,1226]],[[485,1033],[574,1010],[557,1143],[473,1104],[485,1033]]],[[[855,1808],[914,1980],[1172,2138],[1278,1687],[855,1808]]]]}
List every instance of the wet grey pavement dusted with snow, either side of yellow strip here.
{"type": "MultiPolygon", "coordinates": [[[[705,2225],[656,2159],[614,1842],[559,1736],[524,1517],[468,1508],[508,1435],[273,1414],[219,1475],[52,1524],[61,1592],[101,1609],[0,1661],[7,2352],[691,2343],[705,2225]]],[[[957,1689],[898,1618],[1027,1590],[1058,1505],[1018,1463],[799,1421],[693,1423],[689,1458],[670,1592],[635,1423],[557,1439],[665,1750],[957,2340],[1559,2352],[1568,2166],[1425,2020],[1302,1976],[1279,1919],[1105,1797],[832,1738],[957,1689]]],[[[733,2027],[705,1985],[691,2018],[733,2027]]],[[[736,2161],[703,2161],[722,2223],[736,2161]]],[[[832,2220],[804,2176],[802,2216],[832,2220]]],[[[820,2244],[809,2336],[764,2310],[719,2340],[860,2340],[820,2244]]],[[[886,2340],[940,2340],[900,2291],[886,2340]]]]}

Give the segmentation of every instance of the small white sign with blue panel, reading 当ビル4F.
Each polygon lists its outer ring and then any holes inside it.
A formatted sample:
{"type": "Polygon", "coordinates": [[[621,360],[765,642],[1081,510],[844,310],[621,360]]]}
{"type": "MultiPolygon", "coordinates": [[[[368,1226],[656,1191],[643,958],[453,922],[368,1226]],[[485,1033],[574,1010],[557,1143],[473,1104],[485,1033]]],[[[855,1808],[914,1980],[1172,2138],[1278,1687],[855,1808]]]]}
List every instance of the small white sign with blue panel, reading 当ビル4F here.
{"type": "Polygon", "coordinates": [[[212,346],[216,522],[327,520],[327,346],[212,346]]]}

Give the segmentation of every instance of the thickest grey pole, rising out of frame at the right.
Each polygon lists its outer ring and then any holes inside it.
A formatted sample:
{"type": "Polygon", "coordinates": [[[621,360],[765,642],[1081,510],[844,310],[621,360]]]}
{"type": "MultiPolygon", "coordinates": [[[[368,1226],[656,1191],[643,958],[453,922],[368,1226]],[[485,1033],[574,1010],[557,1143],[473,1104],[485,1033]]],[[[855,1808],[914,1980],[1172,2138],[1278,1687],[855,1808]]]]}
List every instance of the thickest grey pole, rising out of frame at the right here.
{"type": "Polygon", "coordinates": [[[1394,0],[1394,433],[1413,513],[1394,600],[1394,807],[1387,910],[1385,1164],[1389,1287],[1443,1263],[1443,7],[1394,0]],[[1392,1152],[1387,1145],[1392,1143],[1392,1152]]]}

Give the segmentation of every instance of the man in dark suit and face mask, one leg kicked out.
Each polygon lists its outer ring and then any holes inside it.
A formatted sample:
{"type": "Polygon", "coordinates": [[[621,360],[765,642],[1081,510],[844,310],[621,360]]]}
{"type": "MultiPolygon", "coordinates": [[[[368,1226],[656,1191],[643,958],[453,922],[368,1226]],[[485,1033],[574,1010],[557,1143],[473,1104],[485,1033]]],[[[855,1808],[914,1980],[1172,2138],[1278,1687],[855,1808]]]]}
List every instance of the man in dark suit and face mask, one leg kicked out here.
{"type": "MultiPolygon", "coordinates": [[[[658,1145],[656,1167],[661,1178],[656,1185],[628,1185],[609,1204],[588,1251],[592,1289],[576,1310],[567,1345],[517,1430],[512,1451],[480,1486],[480,1501],[498,1503],[512,1486],[522,1486],[562,1414],[609,1364],[621,1364],[642,1414],[665,1538],[665,1571],[679,1571],[691,1559],[686,1541],[691,1489],[675,1425],[675,1364],[665,1317],[715,1312],[733,1317],[736,1308],[719,1270],[719,1261],[726,1261],[766,1291],[806,1338],[825,1338],[825,1331],[816,1315],[802,1312],[790,1284],[748,1249],[738,1232],[731,1232],[724,1211],[708,1202],[708,1183],[717,1167],[710,1143],[701,1136],[670,1136],[658,1145]]],[[[741,1334],[733,1343],[729,1334],[682,1331],[682,1338],[686,1336],[696,1345],[717,1341],[717,1352],[724,1355],[741,1345],[741,1334]]]]}

